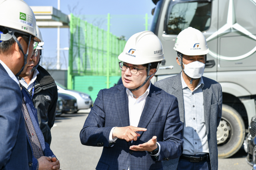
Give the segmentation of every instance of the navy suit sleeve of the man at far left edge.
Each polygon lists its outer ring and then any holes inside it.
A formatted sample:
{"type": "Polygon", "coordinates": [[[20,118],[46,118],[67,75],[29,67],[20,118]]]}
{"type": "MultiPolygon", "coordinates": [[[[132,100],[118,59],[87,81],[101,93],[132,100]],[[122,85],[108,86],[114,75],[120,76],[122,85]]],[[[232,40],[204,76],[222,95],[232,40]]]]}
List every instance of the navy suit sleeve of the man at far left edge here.
{"type": "Polygon", "coordinates": [[[0,169],[10,159],[16,144],[22,119],[22,94],[13,80],[2,78],[0,82],[0,169]]]}

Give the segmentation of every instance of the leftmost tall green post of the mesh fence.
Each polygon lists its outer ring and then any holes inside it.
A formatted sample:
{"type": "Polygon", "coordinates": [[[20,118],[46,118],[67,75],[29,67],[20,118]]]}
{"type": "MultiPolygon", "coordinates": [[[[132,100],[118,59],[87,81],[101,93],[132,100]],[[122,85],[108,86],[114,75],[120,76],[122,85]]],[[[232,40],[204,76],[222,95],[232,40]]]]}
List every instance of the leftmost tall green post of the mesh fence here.
{"type": "Polygon", "coordinates": [[[69,47],[69,54],[68,54],[68,89],[72,89],[72,72],[73,72],[73,14],[70,14],[70,47],[69,47]]]}

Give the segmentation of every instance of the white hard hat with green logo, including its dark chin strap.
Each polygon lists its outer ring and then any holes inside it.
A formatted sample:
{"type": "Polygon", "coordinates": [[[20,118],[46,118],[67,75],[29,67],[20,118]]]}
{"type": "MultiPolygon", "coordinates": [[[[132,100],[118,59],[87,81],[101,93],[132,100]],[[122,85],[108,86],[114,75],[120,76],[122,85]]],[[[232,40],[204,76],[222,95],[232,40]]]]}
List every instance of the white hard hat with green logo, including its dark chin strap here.
{"type": "Polygon", "coordinates": [[[42,40],[37,35],[36,18],[30,6],[23,0],[0,0],[0,17],[0,26],[8,30],[6,34],[0,32],[0,43],[13,38],[24,55],[24,65],[18,74],[16,74],[16,76],[18,76],[27,63],[28,50],[25,54],[14,33],[17,32],[28,35],[28,49],[32,36],[34,37],[34,44],[37,45],[37,43],[42,40]]]}

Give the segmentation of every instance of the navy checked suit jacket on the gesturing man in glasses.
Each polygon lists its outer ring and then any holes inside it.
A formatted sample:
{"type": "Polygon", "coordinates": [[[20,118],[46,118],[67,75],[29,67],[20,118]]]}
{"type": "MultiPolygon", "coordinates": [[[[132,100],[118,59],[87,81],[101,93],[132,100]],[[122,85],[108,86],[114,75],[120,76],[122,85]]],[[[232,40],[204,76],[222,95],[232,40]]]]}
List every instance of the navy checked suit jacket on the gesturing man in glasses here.
{"type": "Polygon", "coordinates": [[[162,170],[163,160],[178,158],[183,152],[182,122],[178,100],[153,84],[146,99],[138,127],[137,141],[117,139],[109,146],[112,127],[130,125],[128,96],[123,84],[100,90],[80,132],[83,145],[102,147],[102,155],[96,170],[162,170]],[[161,146],[158,159],[146,151],[132,151],[131,145],[148,142],[153,136],[161,146]]]}

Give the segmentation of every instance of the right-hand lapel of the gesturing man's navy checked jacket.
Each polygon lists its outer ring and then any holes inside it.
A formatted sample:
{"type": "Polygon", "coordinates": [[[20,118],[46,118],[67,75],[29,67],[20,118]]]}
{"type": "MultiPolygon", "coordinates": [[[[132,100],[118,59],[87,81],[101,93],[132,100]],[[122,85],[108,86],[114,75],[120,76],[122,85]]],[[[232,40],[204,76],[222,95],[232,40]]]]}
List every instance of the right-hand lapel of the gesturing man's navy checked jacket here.
{"type": "MultiPolygon", "coordinates": [[[[140,116],[140,121],[139,121],[138,127],[146,128],[148,126],[148,123],[150,122],[150,120],[154,116],[154,114],[156,112],[156,109],[157,109],[158,105],[161,102],[161,98],[158,98],[156,96],[159,93],[161,93],[161,92],[156,91],[155,86],[153,84],[151,84],[144,109],[143,109],[142,114],[140,116]]],[[[143,131],[138,131],[138,133],[140,133],[140,137],[141,137],[143,131]]],[[[147,141],[145,141],[145,142],[147,142],[147,141]]],[[[133,145],[134,145],[134,143],[133,143],[133,145]]]]}

